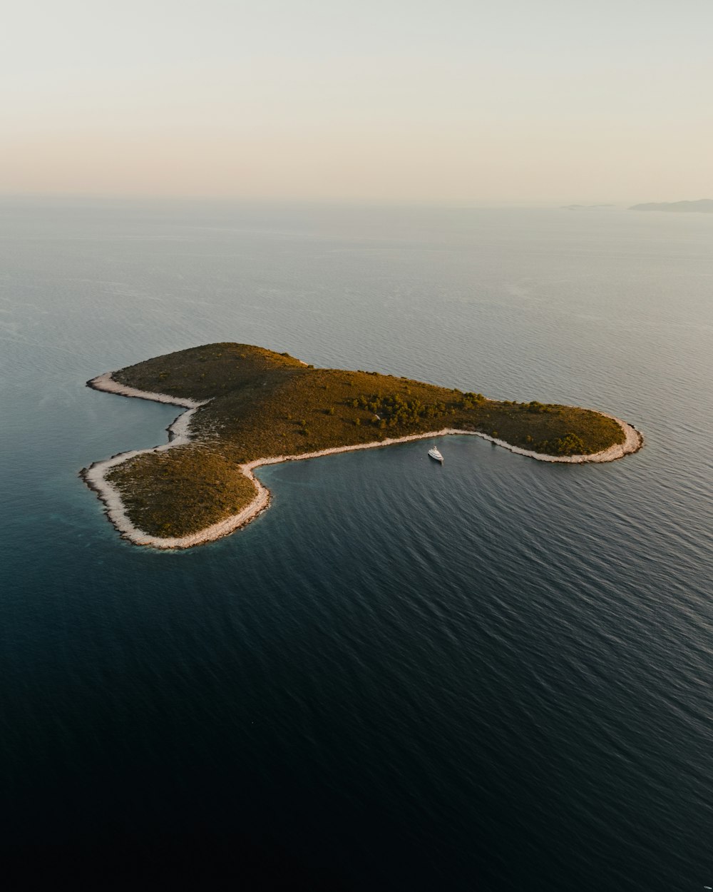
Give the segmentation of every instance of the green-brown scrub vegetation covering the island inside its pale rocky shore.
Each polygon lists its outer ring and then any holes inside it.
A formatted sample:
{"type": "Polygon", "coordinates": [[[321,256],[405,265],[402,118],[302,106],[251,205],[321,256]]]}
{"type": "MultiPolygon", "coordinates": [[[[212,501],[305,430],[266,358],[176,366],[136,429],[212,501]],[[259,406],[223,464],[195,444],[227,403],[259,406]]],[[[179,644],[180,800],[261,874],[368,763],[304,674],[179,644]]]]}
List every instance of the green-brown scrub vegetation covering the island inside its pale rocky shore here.
{"type": "Polygon", "coordinates": [[[548,455],[586,455],[624,441],[588,409],[487,400],[377,372],[313,368],[288,353],[217,343],[114,373],[144,391],[210,400],[193,417],[193,442],[113,468],[127,513],[156,536],[184,536],[236,514],[255,490],[238,466],[444,427],[478,431],[548,455]]]}

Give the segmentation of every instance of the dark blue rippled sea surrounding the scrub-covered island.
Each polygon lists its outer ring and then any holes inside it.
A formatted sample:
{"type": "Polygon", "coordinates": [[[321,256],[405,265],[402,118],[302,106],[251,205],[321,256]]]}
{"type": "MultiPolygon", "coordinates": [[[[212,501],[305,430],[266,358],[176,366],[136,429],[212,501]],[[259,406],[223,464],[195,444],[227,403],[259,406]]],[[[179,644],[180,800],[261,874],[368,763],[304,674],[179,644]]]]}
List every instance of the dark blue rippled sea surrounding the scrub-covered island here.
{"type": "Polygon", "coordinates": [[[0,257],[0,847],[26,879],[713,886],[713,216],[6,197],[0,257]],[[645,445],[265,467],[242,531],[132,546],[78,471],[180,410],[86,380],[225,341],[603,409],[645,445]]]}

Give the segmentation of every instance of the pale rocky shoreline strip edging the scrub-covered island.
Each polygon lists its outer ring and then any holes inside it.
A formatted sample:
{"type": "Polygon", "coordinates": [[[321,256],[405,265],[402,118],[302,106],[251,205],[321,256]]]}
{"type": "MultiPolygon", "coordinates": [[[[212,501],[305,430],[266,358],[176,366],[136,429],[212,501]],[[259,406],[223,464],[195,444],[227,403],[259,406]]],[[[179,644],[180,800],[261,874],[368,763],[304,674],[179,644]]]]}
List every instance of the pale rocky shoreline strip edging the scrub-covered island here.
{"type": "MultiPolygon", "coordinates": [[[[519,446],[512,446],[511,443],[504,442],[504,440],[498,440],[496,437],[491,437],[488,434],[481,434],[478,431],[464,431],[454,427],[445,427],[440,431],[430,431],[426,434],[410,434],[406,437],[395,437],[386,440],[374,440],[373,442],[368,443],[356,443],[352,446],[337,446],[333,447],[332,449],[318,450],[316,452],[303,452],[299,455],[281,455],[273,456],[270,458],[256,458],[254,461],[238,466],[242,475],[246,476],[250,480],[256,490],[255,498],[250,502],[250,504],[243,508],[242,511],[240,511],[238,514],[225,517],[224,520],[219,521],[217,524],[207,526],[205,529],[199,530],[197,533],[191,533],[187,536],[164,539],[160,538],[159,536],[152,536],[149,533],[144,533],[143,530],[138,529],[138,527],[131,523],[127,516],[126,508],[124,506],[123,500],[121,499],[119,490],[117,490],[116,487],[112,486],[111,483],[106,479],[106,474],[112,467],[116,467],[122,462],[127,461],[129,458],[134,458],[137,455],[143,455],[146,452],[165,451],[173,448],[174,446],[181,446],[185,443],[191,442],[191,419],[195,412],[200,409],[201,406],[206,405],[209,400],[190,400],[188,398],[173,397],[168,395],[167,393],[154,393],[149,391],[137,390],[135,387],[129,387],[124,384],[119,384],[113,379],[112,375],[113,372],[105,372],[103,375],[96,376],[90,381],[87,381],[86,386],[91,387],[94,390],[116,393],[119,396],[134,397],[135,399],[139,400],[163,402],[170,405],[181,406],[184,409],[187,409],[187,411],[182,412],[181,415],[176,417],[176,419],[170,425],[168,425],[167,443],[163,443],[162,445],[156,446],[152,449],[119,452],[116,455],[111,456],[111,458],[104,458],[100,461],[95,461],[89,467],[82,468],[82,470],[79,472],[79,476],[82,478],[82,480],[84,480],[86,485],[91,490],[94,490],[94,492],[96,492],[99,499],[102,501],[106,516],[111,521],[111,524],[113,524],[114,527],[119,531],[122,538],[133,542],[135,545],[143,545],[152,549],[190,549],[193,548],[193,546],[195,545],[203,545],[207,542],[222,539],[224,536],[230,535],[230,533],[234,533],[235,530],[238,530],[242,526],[249,524],[251,520],[258,516],[258,514],[261,514],[263,511],[265,511],[270,504],[270,491],[266,488],[266,486],[260,483],[258,478],[253,474],[255,468],[262,467],[263,465],[278,465],[282,464],[285,461],[301,461],[307,458],[320,458],[321,456],[334,455],[338,452],[355,452],[356,450],[376,449],[380,446],[391,446],[395,443],[411,442],[413,440],[425,440],[429,437],[441,437],[447,436],[449,434],[480,437],[483,440],[488,440],[489,442],[494,443],[496,446],[502,446],[504,449],[515,452],[518,455],[525,456],[526,458],[534,458],[537,461],[547,461],[551,463],[570,465],[583,465],[588,463],[600,464],[603,462],[616,461],[619,458],[624,458],[624,456],[626,455],[631,455],[632,453],[637,452],[643,446],[643,436],[639,433],[639,431],[636,430],[633,425],[628,425],[627,422],[622,421],[620,418],[614,417],[613,415],[609,415],[606,412],[600,412],[600,415],[612,418],[614,421],[617,422],[617,424],[624,431],[625,440],[623,443],[616,443],[615,445],[610,446],[609,449],[602,450],[601,452],[594,452],[591,455],[545,455],[542,452],[520,449],[519,446]]],[[[594,411],[596,411],[596,409],[594,409],[594,411]]]]}

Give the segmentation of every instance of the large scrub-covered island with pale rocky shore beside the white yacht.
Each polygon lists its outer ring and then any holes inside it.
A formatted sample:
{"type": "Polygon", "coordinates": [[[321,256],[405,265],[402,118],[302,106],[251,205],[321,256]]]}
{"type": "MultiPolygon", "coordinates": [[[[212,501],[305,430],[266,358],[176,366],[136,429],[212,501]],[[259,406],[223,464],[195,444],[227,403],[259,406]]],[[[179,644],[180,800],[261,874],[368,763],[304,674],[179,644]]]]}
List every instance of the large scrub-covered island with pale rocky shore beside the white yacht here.
{"type": "Polygon", "coordinates": [[[119,533],[155,549],[214,541],[258,516],[270,501],[253,473],[261,465],[446,434],[570,464],[612,461],[643,444],[632,425],[593,409],[314,368],[242,343],[148,359],[87,386],[187,409],[168,427],[167,443],[80,472],[119,533]]]}

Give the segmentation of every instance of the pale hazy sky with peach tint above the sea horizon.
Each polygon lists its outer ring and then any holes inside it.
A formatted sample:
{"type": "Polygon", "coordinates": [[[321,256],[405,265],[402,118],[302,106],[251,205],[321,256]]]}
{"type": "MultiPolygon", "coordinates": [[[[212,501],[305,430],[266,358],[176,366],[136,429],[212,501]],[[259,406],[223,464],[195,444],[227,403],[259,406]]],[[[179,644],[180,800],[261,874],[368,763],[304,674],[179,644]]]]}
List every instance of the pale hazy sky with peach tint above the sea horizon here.
{"type": "Polygon", "coordinates": [[[713,0],[13,5],[0,193],[713,197],[713,0]]]}

